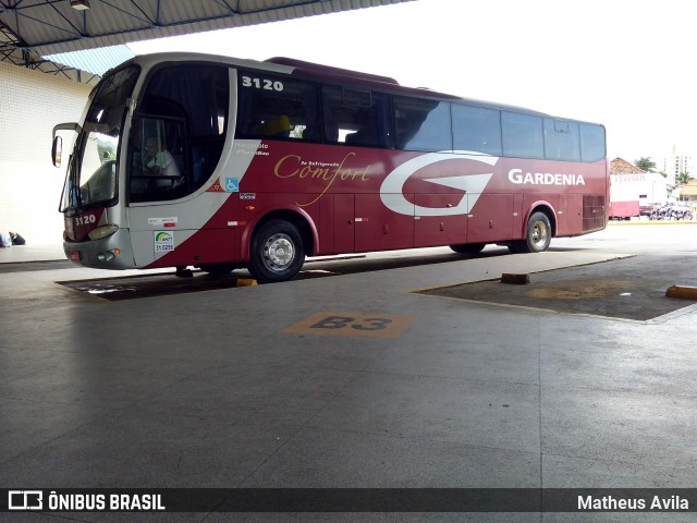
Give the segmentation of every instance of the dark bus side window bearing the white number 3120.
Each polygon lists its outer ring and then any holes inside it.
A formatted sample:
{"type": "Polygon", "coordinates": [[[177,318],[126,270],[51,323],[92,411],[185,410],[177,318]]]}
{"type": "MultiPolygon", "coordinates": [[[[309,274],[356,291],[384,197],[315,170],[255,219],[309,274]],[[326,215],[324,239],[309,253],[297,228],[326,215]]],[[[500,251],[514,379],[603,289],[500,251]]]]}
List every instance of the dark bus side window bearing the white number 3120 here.
{"type": "Polygon", "coordinates": [[[248,71],[237,77],[237,138],[317,141],[314,84],[248,71]]]}

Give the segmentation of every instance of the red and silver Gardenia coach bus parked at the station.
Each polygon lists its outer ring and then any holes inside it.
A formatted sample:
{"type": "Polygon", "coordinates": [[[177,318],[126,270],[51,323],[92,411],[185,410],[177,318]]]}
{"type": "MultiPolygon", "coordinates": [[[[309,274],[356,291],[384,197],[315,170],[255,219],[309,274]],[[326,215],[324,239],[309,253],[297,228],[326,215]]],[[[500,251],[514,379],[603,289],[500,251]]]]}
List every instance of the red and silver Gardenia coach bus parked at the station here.
{"type": "Polygon", "coordinates": [[[247,268],[450,246],[546,251],[601,230],[600,124],[289,58],[135,57],[108,72],[63,185],[64,251],[100,269],[247,268]]]}

